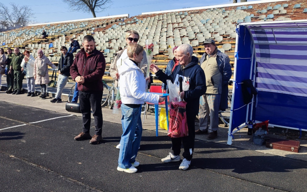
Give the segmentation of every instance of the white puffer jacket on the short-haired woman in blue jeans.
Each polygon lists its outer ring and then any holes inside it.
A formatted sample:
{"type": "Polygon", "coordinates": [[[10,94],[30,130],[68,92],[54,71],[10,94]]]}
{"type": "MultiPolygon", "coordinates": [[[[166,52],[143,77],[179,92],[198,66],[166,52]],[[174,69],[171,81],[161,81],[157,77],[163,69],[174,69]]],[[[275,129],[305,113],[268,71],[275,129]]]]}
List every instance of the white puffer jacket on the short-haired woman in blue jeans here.
{"type": "Polygon", "coordinates": [[[142,70],[130,59],[122,62],[120,75],[120,97],[123,104],[159,103],[159,94],[146,91],[146,81],[142,70]]]}

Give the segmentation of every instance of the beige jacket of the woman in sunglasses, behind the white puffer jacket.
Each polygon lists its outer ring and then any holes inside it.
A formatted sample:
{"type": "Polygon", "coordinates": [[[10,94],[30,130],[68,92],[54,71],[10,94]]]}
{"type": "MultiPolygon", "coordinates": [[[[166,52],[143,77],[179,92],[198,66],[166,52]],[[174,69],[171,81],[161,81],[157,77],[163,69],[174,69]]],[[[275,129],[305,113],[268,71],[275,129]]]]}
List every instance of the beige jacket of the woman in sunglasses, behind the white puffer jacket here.
{"type": "MultiPolygon", "coordinates": [[[[118,51],[115,56],[114,56],[114,59],[112,61],[112,63],[110,64],[110,68],[109,68],[109,73],[110,73],[110,76],[113,78],[113,79],[116,79],[116,74],[118,73],[118,68],[117,68],[117,61],[118,59],[120,58],[120,56],[123,54],[125,49],[121,50],[121,51],[118,51]]],[[[143,52],[143,60],[142,62],[140,63],[139,65],[142,73],[144,74],[144,77],[146,77],[146,71],[147,71],[147,57],[146,57],[146,52],[144,51],[143,52]]],[[[117,87],[118,85],[118,80],[115,80],[114,82],[114,86],[117,87]]]]}

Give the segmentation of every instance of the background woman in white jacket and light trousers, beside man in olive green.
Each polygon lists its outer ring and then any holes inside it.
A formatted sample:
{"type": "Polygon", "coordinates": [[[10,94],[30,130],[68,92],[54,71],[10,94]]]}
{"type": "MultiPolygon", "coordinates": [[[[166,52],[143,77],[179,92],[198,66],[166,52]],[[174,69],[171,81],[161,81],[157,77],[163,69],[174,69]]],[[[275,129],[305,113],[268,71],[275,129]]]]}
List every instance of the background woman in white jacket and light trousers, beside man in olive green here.
{"type": "Polygon", "coordinates": [[[21,62],[21,70],[26,70],[26,79],[27,79],[27,86],[28,86],[28,94],[27,96],[34,97],[35,96],[35,79],[33,75],[34,71],[34,57],[30,55],[29,51],[24,52],[24,59],[21,62]]]}

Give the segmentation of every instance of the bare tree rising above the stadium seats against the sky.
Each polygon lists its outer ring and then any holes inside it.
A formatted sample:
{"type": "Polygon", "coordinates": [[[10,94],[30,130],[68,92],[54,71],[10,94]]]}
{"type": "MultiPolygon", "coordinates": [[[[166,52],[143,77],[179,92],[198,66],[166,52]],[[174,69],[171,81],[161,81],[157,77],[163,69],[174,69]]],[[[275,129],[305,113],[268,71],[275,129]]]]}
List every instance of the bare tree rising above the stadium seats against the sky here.
{"type": "Polygon", "coordinates": [[[112,5],[112,0],[63,0],[74,11],[91,12],[96,17],[96,12],[102,12],[112,5]]]}

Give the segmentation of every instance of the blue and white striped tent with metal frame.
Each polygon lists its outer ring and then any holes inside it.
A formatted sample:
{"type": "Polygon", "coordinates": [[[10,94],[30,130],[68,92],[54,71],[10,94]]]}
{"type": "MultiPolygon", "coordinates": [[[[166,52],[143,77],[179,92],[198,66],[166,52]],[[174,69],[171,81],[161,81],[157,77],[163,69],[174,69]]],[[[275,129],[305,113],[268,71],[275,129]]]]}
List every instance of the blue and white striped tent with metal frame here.
{"type": "Polygon", "coordinates": [[[236,31],[228,145],[251,120],[307,131],[307,20],[239,23],[236,31]],[[246,105],[247,79],[258,94],[246,105]]]}

